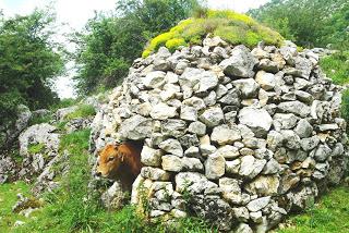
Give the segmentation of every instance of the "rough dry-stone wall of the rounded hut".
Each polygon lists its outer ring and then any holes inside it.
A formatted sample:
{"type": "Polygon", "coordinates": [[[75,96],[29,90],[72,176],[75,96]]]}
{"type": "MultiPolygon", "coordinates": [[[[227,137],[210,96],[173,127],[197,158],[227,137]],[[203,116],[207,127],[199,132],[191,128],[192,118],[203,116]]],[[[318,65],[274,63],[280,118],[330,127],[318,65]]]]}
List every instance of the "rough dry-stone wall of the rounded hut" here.
{"type": "Polygon", "coordinates": [[[317,63],[290,41],[160,48],[135,60],[101,107],[92,150],[144,142],[132,203],[145,193],[151,218],[196,214],[222,231],[268,231],[347,167],[341,88],[317,63]]]}

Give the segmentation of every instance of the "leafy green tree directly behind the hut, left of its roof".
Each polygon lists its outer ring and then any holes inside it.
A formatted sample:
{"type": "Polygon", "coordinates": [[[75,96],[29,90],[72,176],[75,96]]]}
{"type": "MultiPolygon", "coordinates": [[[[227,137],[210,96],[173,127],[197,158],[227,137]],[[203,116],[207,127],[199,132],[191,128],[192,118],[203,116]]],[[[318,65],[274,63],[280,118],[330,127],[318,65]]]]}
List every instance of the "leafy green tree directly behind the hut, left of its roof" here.
{"type": "Polygon", "coordinates": [[[197,5],[196,0],[119,0],[111,15],[96,14],[77,35],[80,93],[115,87],[152,37],[189,17],[197,5]]]}

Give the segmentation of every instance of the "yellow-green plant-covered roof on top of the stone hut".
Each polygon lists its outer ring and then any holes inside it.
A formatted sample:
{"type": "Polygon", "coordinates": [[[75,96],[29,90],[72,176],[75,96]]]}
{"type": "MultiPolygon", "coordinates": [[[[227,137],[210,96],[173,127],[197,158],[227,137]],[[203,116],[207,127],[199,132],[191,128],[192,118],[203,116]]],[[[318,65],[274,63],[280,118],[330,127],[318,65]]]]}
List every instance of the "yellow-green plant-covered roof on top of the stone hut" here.
{"type": "Polygon", "coordinates": [[[180,46],[202,45],[207,34],[219,36],[231,45],[242,44],[250,48],[261,40],[275,46],[280,46],[284,40],[280,34],[245,14],[228,10],[208,10],[204,16],[181,21],[169,32],[153,38],[143,51],[143,57],[156,52],[161,46],[174,51],[180,46]]]}

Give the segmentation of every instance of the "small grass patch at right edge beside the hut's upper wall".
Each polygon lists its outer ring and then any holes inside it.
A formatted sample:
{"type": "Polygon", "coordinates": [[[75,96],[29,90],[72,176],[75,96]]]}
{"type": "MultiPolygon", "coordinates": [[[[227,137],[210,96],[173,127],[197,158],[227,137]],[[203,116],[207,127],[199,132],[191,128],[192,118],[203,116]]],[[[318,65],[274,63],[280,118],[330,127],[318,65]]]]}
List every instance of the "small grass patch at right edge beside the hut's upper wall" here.
{"type": "Polygon", "coordinates": [[[338,51],[320,61],[322,70],[336,84],[349,83],[349,51],[338,51]]]}

